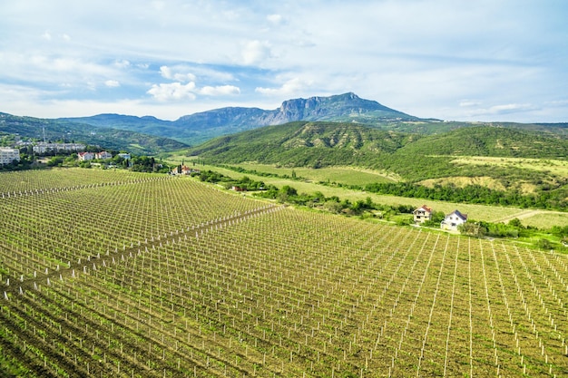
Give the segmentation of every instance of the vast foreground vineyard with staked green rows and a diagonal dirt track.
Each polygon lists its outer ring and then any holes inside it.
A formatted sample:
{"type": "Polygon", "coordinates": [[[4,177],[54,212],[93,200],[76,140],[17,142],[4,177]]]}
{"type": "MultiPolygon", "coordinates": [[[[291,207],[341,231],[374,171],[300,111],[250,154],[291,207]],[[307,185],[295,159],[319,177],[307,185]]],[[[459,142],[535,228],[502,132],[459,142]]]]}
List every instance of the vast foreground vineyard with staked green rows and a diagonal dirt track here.
{"type": "Polygon", "coordinates": [[[568,376],[554,251],[123,171],[0,193],[2,376],[568,376]]]}

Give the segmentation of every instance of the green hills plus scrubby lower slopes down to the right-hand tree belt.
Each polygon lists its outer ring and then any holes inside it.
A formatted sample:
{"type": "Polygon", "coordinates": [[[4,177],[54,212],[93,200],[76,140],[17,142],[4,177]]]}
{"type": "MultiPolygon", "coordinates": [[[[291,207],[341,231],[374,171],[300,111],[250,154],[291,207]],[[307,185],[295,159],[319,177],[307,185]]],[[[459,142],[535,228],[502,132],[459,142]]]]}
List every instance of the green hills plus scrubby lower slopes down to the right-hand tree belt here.
{"type": "Polygon", "coordinates": [[[351,123],[300,121],[221,137],[191,149],[190,154],[217,164],[254,161],[316,169],[351,165],[391,172],[404,181],[364,188],[377,193],[520,207],[567,206],[566,175],[527,165],[466,161],[471,156],[563,159],[568,140],[557,134],[480,126],[419,135],[351,123]],[[448,180],[452,177],[472,182],[456,186],[448,180]],[[491,182],[492,188],[483,182],[491,182]]]}

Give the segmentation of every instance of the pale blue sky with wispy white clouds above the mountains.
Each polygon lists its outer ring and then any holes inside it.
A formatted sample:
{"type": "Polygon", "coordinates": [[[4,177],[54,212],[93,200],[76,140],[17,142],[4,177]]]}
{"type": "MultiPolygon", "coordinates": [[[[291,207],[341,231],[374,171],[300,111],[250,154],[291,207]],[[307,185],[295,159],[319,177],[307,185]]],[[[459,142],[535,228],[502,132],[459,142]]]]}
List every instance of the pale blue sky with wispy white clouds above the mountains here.
{"type": "Polygon", "coordinates": [[[563,0],[15,0],[0,111],[276,109],[355,92],[418,117],[568,121],[563,0]]]}

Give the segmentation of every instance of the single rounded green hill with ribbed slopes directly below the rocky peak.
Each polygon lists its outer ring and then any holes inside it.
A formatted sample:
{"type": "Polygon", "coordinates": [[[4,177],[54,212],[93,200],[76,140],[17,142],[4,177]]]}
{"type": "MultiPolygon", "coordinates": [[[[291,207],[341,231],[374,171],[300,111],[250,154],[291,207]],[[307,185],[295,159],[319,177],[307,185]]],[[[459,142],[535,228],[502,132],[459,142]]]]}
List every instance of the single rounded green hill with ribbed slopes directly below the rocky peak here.
{"type": "Polygon", "coordinates": [[[220,137],[191,149],[214,162],[283,166],[370,165],[420,138],[353,123],[291,122],[220,137]]]}

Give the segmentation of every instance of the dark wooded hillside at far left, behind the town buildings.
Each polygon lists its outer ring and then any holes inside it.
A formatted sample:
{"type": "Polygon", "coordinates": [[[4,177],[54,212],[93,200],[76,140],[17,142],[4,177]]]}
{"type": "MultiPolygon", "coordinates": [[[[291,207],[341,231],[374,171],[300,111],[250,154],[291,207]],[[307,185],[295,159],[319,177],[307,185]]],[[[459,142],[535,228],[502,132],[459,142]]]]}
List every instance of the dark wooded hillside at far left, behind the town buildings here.
{"type": "Polygon", "coordinates": [[[156,154],[188,147],[180,141],[141,132],[93,127],[81,122],[19,117],[0,113],[0,132],[43,140],[44,130],[45,138],[50,141],[83,142],[100,145],[108,150],[128,150],[136,154],[156,154]]]}

